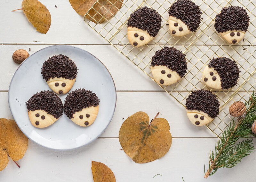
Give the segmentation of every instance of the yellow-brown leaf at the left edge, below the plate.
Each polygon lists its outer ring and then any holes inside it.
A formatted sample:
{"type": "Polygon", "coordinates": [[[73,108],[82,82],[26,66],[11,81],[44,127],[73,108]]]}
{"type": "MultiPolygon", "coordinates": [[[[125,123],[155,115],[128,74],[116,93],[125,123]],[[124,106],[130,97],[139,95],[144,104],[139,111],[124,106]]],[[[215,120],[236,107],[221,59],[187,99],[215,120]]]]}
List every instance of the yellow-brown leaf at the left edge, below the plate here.
{"type": "Polygon", "coordinates": [[[28,148],[28,138],[14,120],[0,118],[0,171],[8,164],[8,156],[17,161],[28,148]]]}

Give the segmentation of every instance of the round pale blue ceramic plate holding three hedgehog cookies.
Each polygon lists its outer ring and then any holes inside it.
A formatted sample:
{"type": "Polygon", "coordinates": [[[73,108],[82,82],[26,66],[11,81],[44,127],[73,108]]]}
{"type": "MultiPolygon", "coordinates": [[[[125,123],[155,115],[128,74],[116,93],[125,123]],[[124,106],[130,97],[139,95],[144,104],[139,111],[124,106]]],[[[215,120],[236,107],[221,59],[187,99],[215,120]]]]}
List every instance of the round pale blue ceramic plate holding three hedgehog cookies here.
{"type": "MultiPolygon", "coordinates": [[[[59,95],[62,103],[67,95],[59,95]]],[[[108,69],[96,57],[77,47],[55,45],[37,51],[20,65],[12,77],[8,100],[14,120],[30,140],[50,149],[67,150],[92,142],[106,129],[115,112],[116,87],[108,69]],[[100,99],[98,116],[89,127],[76,125],[64,113],[46,128],[30,123],[26,101],[36,92],[51,90],[43,79],[41,68],[45,60],[59,54],[72,59],[78,69],[70,91],[84,88],[100,99]]]]}

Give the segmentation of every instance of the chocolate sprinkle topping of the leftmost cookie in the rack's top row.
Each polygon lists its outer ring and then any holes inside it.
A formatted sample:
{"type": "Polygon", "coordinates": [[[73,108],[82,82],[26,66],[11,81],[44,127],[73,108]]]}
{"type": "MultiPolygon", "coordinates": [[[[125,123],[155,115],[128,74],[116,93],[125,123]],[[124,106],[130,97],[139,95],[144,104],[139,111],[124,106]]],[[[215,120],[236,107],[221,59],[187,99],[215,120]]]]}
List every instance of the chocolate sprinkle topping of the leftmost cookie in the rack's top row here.
{"type": "Polygon", "coordinates": [[[128,19],[127,26],[146,30],[150,36],[155,37],[161,29],[162,18],[156,10],[143,7],[134,11],[128,19]]]}

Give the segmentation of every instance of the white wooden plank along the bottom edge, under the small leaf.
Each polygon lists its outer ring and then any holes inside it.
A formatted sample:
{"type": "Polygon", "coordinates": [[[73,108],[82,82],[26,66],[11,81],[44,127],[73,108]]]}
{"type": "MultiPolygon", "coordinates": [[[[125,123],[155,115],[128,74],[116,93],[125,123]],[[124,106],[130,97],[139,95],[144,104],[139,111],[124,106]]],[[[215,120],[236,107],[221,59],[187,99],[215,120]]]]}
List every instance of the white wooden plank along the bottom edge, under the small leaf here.
{"type": "MultiPolygon", "coordinates": [[[[91,161],[106,164],[115,174],[116,181],[196,181],[203,182],[204,164],[208,168],[208,153],[214,149],[216,138],[173,138],[167,154],[153,162],[136,164],[128,157],[118,139],[97,139],[87,146],[68,151],[49,150],[29,141],[25,156],[12,161],[0,171],[1,181],[27,182],[84,182],[93,181],[91,161]],[[157,175],[155,178],[154,176],[157,175]]],[[[256,142],[256,139],[253,139],[256,142]]],[[[237,166],[219,169],[207,181],[255,181],[255,151],[237,166]]]]}

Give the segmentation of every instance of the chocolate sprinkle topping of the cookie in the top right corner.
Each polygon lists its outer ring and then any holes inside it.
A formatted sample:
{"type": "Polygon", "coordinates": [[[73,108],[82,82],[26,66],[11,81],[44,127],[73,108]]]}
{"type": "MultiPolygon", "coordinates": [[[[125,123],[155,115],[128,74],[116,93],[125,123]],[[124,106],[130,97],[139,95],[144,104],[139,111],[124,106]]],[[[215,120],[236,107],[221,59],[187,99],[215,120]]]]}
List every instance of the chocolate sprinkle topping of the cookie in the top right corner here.
{"type": "Polygon", "coordinates": [[[239,6],[228,6],[221,9],[216,15],[214,27],[218,33],[228,30],[247,31],[249,16],[244,8],[239,6]]]}

